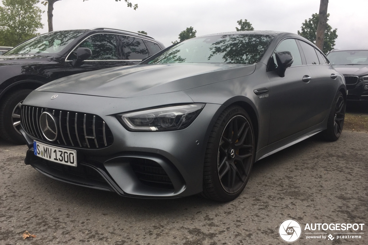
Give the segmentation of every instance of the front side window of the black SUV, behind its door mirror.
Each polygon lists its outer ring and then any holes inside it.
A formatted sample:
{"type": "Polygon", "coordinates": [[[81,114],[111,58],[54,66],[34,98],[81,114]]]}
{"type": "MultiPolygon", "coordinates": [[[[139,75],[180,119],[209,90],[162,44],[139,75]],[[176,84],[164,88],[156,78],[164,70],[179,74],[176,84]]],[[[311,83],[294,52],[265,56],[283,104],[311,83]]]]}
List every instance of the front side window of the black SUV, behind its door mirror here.
{"type": "MultiPolygon", "coordinates": [[[[114,34],[92,35],[84,40],[78,47],[87,47],[91,49],[92,56],[89,57],[88,60],[118,60],[116,37],[114,34]]],[[[77,58],[77,48],[70,54],[68,60],[77,58]]]]}

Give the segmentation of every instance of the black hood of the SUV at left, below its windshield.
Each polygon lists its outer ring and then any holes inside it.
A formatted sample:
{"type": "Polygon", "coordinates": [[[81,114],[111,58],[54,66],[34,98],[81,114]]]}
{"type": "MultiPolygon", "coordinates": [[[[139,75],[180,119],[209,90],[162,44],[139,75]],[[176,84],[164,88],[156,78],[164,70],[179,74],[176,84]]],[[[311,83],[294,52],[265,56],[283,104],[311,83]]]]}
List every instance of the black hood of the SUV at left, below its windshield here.
{"type": "Polygon", "coordinates": [[[34,54],[11,54],[0,55],[1,65],[26,64],[26,63],[46,63],[53,60],[53,56],[43,56],[34,54]]]}

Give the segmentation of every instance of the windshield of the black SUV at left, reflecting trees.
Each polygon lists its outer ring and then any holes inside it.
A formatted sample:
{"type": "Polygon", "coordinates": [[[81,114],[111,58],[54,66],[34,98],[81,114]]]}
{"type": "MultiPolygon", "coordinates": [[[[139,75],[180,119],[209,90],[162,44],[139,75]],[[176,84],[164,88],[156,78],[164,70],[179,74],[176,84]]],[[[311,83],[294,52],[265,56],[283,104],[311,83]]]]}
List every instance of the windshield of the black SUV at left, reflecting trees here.
{"type": "Polygon", "coordinates": [[[54,55],[64,49],[84,31],[58,31],[36,36],[14,47],[6,54],[54,55]]]}

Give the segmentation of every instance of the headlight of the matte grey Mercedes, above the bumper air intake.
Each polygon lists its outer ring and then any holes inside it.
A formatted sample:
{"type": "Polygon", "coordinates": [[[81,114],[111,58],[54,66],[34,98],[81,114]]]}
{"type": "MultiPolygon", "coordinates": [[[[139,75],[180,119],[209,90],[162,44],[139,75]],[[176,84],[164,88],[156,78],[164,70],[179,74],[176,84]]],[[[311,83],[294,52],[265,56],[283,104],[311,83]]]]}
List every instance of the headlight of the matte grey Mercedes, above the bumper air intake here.
{"type": "Polygon", "coordinates": [[[134,131],[173,131],[188,127],[204,106],[205,104],[170,106],[119,114],[117,117],[134,131]]]}

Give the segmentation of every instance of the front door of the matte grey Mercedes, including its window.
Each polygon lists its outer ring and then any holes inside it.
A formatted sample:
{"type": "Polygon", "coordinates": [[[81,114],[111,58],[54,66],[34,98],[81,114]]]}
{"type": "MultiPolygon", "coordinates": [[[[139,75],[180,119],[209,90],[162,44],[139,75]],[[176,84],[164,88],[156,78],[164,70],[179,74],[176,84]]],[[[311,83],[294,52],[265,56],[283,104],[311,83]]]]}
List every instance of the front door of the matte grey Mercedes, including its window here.
{"type": "Polygon", "coordinates": [[[284,77],[280,77],[275,69],[267,72],[270,81],[269,99],[272,100],[269,144],[311,127],[311,118],[314,117],[311,111],[314,104],[312,79],[309,80],[312,74],[300,53],[297,40],[282,40],[277,51],[289,51],[294,61],[286,69],[284,77]]]}

